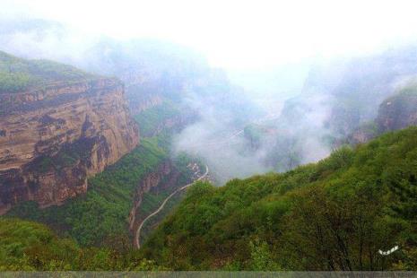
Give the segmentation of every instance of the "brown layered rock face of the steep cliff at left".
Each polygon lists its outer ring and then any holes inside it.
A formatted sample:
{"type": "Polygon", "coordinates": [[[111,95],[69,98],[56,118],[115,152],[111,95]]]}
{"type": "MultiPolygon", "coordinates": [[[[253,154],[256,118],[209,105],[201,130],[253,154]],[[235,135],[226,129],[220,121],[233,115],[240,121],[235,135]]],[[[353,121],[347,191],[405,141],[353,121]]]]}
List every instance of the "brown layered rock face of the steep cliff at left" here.
{"type": "Polygon", "coordinates": [[[3,92],[0,103],[0,213],[25,200],[62,204],[139,142],[115,79],[3,92]]]}

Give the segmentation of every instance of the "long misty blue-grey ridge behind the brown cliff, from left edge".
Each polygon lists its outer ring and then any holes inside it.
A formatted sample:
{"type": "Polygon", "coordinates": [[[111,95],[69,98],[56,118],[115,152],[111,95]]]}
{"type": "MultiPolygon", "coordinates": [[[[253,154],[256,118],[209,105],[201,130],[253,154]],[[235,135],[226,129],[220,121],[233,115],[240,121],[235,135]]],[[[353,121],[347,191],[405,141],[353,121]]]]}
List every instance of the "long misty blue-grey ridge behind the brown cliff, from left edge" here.
{"type": "Polygon", "coordinates": [[[232,86],[222,70],[211,68],[204,56],[186,46],[157,39],[94,36],[39,19],[0,23],[4,51],[52,58],[94,74],[116,76],[126,85],[126,100],[134,116],[165,100],[181,111],[171,118],[178,126],[195,121],[199,109],[207,106],[221,110],[227,119],[234,113],[239,115],[233,120],[252,114],[246,108],[251,104],[248,96],[232,86]]]}

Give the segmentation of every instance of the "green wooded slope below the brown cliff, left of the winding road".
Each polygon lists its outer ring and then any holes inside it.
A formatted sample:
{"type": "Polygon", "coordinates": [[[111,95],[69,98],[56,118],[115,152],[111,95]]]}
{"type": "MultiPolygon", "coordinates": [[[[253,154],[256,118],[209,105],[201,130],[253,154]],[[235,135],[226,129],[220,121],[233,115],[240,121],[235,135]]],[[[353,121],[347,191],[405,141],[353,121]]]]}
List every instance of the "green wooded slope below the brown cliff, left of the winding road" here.
{"type": "MultiPolygon", "coordinates": [[[[13,207],[6,217],[45,223],[60,236],[75,239],[83,247],[108,246],[114,238],[130,242],[128,216],[135,189],[148,173],[169,159],[168,149],[167,133],[143,139],[133,152],[89,178],[89,189],[85,195],[68,200],[61,206],[46,209],[39,209],[35,202],[24,202],[13,207]]],[[[74,158],[78,159],[79,153],[76,144],[73,144],[71,149],[64,148],[52,158],[42,158],[37,165],[39,170],[63,167],[65,163],[74,162],[74,158]]],[[[152,213],[172,191],[190,182],[192,172],[187,169],[190,161],[184,153],[173,160],[178,171],[175,184],[166,190],[144,194],[143,204],[138,211],[139,217],[152,213]]]]}

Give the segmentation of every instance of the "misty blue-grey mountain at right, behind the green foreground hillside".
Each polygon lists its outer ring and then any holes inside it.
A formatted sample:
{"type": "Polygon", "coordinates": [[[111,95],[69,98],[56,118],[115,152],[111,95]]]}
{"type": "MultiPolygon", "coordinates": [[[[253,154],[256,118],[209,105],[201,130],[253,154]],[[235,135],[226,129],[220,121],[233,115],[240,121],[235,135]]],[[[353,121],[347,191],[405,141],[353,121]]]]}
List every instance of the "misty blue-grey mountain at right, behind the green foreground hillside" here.
{"type": "Polygon", "coordinates": [[[285,171],[325,158],[346,138],[363,143],[381,134],[373,121],[388,112],[379,105],[413,81],[415,54],[415,46],[407,46],[312,65],[300,94],[284,102],[274,123],[265,123],[276,132],[259,140],[263,163],[285,171]]]}

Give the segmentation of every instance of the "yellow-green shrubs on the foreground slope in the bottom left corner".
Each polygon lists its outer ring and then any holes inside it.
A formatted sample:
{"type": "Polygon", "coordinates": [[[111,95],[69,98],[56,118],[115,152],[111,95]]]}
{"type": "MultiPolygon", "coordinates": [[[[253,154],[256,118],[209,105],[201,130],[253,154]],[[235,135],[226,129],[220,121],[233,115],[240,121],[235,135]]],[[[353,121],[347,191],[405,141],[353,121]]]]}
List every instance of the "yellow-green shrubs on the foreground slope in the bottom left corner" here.
{"type": "Polygon", "coordinates": [[[128,242],[113,243],[116,248],[80,248],[42,224],[1,219],[0,271],[161,270],[140,259],[128,242]]]}

